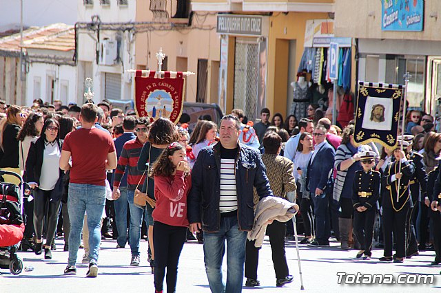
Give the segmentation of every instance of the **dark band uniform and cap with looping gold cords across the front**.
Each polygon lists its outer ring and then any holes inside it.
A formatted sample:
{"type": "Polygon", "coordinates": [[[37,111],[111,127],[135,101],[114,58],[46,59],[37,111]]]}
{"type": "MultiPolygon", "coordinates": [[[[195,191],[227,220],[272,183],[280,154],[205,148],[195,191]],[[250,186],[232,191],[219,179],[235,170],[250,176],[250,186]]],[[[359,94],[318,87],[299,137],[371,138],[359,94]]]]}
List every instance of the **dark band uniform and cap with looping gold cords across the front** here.
{"type": "MultiPolygon", "coordinates": [[[[398,142],[398,145],[400,144],[401,142],[398,142]]],[[[403,146],[405,149],[409,143],[404,141],[403,146]]],[[[382,194],[384,258],[380,260],[391,261],[393,241],[395,241],[396,258],[399,260],[394,261],[402,262],[402,258],[406,257],[406,219],[411,206],[409,182],[415,172],[415,165],[407,158],[401,160],[402,177],[398,186],[395,175],[399,171],[399,165],[399,161],[389,162],[382,176],[382,185],[386,188],[382,194]],[[399,191],[398,202],[397,191],[399,191]]]]}

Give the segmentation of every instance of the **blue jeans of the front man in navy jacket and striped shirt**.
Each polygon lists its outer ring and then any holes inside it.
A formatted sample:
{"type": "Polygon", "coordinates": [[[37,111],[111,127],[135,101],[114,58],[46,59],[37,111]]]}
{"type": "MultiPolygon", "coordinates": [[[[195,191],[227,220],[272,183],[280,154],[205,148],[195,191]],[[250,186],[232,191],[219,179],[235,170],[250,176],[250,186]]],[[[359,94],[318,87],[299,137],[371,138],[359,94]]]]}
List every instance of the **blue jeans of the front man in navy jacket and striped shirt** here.
{"type": "Polygon", "coordinates": [[[213,293],[242,292],[247,232],[238,229],[237,217],[221,217],[218,232],[204,232],[204,262],[213,293]],[[222,280],[222,261],[227,240],[227,284],[222,280]]]}

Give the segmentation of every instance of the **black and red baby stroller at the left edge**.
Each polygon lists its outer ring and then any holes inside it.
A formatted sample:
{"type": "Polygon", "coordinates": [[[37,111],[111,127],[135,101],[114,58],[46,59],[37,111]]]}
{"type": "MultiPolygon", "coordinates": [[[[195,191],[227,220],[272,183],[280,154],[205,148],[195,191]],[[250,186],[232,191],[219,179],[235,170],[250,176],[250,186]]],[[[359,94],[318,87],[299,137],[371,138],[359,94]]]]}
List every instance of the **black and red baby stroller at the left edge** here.
{"type": "Polygon", "coordinates": [[[0,269],[9,268],[12,274],[20,274],[23,262],[17,256],[17,248],[25,230],[23,179],[10,171],[0,171],[0,176],[3,175],[19,178],[20,185],[0,182],[0,269]]]}

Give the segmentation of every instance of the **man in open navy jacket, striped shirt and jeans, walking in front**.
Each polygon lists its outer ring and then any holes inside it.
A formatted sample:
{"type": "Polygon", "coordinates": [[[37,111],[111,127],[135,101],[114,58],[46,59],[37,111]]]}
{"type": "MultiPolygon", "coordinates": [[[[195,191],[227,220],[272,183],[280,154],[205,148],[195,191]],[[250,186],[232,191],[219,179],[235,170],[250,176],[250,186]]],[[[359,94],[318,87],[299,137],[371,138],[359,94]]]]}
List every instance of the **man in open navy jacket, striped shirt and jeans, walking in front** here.
{"type": "Polygon", "coordinates": [[[220,120],[220,142],[201,150],[192,170],[187,198],[190,230],[204,231],[204,261],[212,292],[241,292],[247,231],[254,223],[253,189],[272,196],[260,153],[238,140],[240,121],[220,120]],[[227,283],[222,261],[227,241],[227,283]]]}

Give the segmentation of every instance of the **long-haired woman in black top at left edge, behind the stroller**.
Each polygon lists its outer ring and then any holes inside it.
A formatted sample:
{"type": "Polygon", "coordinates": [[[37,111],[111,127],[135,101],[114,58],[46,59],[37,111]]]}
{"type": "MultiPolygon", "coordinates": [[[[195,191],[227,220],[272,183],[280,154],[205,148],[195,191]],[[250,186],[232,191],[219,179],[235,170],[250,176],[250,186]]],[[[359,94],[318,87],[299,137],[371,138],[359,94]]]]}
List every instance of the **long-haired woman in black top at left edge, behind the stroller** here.
{"type": "MultiPolygon", "coordinates": [[[[2,121],[0,135],[0,170],[21,174],[19,169],[19,141],[17,135],[23,125],[26,114],[21,107],[12,105],[8,108],[6,120],[2,121]]],[[[19,179],[12,175],[3,175],[4,182],[19,185],[19,179]]]]}

